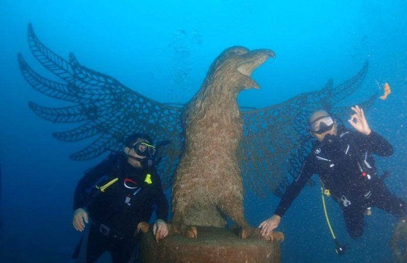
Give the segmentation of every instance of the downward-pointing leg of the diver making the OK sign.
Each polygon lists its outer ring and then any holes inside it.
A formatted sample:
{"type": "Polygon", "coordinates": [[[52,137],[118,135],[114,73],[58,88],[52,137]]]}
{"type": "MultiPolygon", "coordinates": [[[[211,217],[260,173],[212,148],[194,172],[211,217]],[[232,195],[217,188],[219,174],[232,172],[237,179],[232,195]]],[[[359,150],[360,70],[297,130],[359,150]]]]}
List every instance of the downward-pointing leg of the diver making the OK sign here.
{"type": "Polygon", "coordinates": [[[342,207],[343,218],[347,233],[353,238],[360,238],[364,227],[364,210],[362,206],[352,204],[353,207],[342,207]]]}

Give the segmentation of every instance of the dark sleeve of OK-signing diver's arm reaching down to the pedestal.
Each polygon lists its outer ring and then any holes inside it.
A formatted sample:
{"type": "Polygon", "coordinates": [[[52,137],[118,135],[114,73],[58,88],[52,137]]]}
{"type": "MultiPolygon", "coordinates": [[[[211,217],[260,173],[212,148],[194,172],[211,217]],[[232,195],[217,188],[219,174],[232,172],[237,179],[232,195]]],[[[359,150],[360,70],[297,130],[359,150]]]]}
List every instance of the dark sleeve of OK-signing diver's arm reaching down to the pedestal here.
{"type": "Polygon", "coordinates": [[[297,178],[288,186],[287,190],[281,197],[280,203],[277,209],[274,211],[275,215],[283,217],[285,211],[297,198],[298,194],[304,188],[305,184],[308,182],[309,178],[315,173],[314,172],[315,163],[311,161],[311,155],[305,160],[299,175],[297,178]]]}

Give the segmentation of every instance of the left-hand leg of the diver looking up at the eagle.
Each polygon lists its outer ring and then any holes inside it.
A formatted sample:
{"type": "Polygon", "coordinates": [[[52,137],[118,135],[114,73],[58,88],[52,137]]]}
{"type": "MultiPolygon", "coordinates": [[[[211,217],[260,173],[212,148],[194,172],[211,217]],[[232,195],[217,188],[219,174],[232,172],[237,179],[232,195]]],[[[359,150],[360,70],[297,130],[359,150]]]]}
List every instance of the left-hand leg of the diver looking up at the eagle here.
{"type": "Polygon", "coordinates": [[[107,250],[108,240],[103,236],[95,225],[89,230],[88,243],[86,244],[86,262],[92,263],[107,250]]]}

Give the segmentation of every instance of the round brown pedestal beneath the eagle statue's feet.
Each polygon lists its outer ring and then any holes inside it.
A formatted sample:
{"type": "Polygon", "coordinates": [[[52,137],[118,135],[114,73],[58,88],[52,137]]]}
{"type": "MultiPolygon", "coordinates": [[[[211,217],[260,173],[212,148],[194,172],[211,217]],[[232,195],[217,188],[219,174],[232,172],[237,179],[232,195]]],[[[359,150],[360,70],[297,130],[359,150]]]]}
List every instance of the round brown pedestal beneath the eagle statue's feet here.
{"type": "Polygon", "coordinates": [[[228,229],[218,227],[198,227],[198,233],[197,239],[173,235],[157,244],[149,231],[140,242],[140,262],[281,262],[280,244],[276,241],[240,239],[228,229]]]}

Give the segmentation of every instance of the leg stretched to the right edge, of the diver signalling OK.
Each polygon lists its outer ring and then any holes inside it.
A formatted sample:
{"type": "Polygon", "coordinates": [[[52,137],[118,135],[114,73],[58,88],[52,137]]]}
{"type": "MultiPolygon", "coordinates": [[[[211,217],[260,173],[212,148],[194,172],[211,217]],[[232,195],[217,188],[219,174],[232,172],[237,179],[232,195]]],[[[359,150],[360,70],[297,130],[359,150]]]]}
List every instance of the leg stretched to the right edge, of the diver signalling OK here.
{"type": "Polygon", "coordinates": [[[371,205],[396,216],[406,216],[405,202],[393,194],[382,183],[376,187],[372,194],[371,205]]]}

